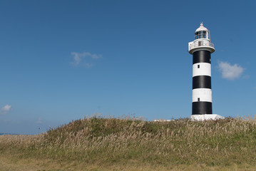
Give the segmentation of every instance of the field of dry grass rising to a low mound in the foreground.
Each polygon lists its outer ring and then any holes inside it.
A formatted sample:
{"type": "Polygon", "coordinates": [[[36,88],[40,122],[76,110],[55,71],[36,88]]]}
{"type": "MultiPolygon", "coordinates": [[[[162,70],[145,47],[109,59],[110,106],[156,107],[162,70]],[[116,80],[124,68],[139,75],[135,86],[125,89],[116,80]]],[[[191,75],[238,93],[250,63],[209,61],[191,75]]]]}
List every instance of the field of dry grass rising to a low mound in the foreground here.
{"type": "Polygon", "coordinates": [[[0,170],[256,170],[256,120],[85,118],[0,135],[0,170]]]}

